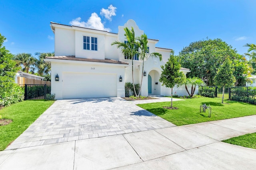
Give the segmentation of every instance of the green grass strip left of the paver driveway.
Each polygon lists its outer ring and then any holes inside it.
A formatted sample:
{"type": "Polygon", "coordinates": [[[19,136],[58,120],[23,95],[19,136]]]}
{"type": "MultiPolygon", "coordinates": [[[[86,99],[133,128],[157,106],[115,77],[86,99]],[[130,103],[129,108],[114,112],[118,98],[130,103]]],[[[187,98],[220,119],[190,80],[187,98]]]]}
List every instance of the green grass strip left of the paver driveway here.
{"type": "Polygon", "coordinates": [[[12,119],[0,126],[0,150],[4,150],[22,134],[54,101],[26,100],[0,109],[2,119],[12,119]]]}

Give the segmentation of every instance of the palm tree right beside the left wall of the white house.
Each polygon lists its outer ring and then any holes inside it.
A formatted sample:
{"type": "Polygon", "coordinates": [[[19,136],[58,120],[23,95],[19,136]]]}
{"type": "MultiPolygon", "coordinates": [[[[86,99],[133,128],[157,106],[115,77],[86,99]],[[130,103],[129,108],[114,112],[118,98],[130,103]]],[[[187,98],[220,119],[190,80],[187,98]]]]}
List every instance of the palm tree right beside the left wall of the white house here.
{"type": "Polygon", "coordinates": [[[44,61],[45,57],[52,57],[54,56],[54,52],[52,53],[39,53],[37,52],[35,55],[38,56],[38,60],[36,61],[36,67],[38,68],[38,74],[40,76],[47,75],[51,73],[51,64],[46,63],[44,61]]]}

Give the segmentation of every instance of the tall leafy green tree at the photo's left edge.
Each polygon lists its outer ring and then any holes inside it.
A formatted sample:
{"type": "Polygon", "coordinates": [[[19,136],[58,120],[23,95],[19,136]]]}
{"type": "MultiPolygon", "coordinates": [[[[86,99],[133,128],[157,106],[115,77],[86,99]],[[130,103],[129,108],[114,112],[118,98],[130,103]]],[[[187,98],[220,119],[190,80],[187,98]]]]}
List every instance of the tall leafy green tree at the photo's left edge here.
{"type": "Polygon", "coordinates": [[[0,33],[0,107],[23,100],[24,93],[14,82],[18,71],[14,57],[3,45],[6,38],[0,33]]]}

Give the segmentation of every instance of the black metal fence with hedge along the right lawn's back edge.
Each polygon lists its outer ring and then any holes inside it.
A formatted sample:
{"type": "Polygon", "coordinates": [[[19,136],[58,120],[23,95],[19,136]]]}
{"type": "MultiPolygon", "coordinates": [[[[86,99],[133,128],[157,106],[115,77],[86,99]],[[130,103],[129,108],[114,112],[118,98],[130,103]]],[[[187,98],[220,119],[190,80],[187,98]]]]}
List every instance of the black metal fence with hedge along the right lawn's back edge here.
{"type": "MultiPolygon", "coordinates": [[[[198,94],[210,98],[222,98],[222,90],[217,86],[200,86],[198,94]]],[[[256,104],[256,86],[225,88],[224,98],[256,104]]]]}

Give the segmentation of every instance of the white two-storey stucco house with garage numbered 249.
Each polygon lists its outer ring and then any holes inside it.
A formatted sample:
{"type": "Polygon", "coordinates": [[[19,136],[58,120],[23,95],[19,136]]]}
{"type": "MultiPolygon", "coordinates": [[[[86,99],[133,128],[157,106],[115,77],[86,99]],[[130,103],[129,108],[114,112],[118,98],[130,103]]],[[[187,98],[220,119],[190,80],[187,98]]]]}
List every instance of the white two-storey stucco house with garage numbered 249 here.
{"type": "MultiPolygon", "coordinates": [[[[64,98],[96,98],[96,97],[124,97],[125,82],[132,82],[131,60],[125,59],[114,41],[125,41],[124,28],[134,28],[135,36],[140,36],[140,30],[134,20],[128,20],[124,26],[118,27],[118,33],[89,29],[78,26],[50,23],[55,35],[55,56],[46,57],[51,63],[52,94],[56,99],[64,98]],[[54,81],[58,74],[59,81],[54,81]],[[122,81],[120,81],[120,78],[122,81]]],[[[162,61],[150,58],[144,62],[134,58],[134,82],[141,81],[141,73],[146,72],[142,82],[142,96],[162,95],[170,96],[170,88],[159,82],[164,65],[170,57],[172,49],[156,47],[159,40],[148,39],[150,53],[162,54],[162,61]]],[[[186,74],[187,68],[181,68],[186,74]]],[[[186,90],[178,95],[186,95],[186,90]],[[184,94],[181,94],[184,93],[184,94]]]]}

